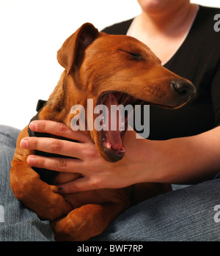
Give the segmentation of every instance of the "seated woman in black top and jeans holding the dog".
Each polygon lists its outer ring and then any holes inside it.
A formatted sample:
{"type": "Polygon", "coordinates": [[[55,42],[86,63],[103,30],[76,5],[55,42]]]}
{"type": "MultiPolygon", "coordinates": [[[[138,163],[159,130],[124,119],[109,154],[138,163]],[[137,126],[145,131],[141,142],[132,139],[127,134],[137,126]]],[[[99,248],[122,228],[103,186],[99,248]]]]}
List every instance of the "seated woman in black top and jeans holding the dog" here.
{"type": "MultiPolygon", "coordinates": [[[[142,40],[165,67],[194,83],[196,98],[177,110],[150,107],[150,137],[135,139],[135,133],[128,131],[125,157],[114,164],[98,156],[87,136],[76,136],[62,124],[34,121],[31,128],[81,142],[80,147],[71,145],[81,161],[66,161],[66,170],[81,172],[84,178],[62,184],[62,193],[144,181],[197,183],[125,211],[95,241],[218,241],[214,207],[220,195],[220,37],[213,29],[213,17],[220,10],[188,0],[139,0],[139,4],[141,15],[104,32],[142,40]]],[[[21,145],[51,152],[54,142],[32,137],[21,145]]],[[[59,160],[29,156],[27,161],[59,170],[59,160]]]]}

